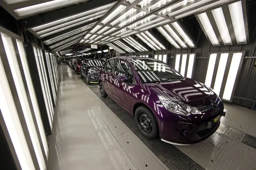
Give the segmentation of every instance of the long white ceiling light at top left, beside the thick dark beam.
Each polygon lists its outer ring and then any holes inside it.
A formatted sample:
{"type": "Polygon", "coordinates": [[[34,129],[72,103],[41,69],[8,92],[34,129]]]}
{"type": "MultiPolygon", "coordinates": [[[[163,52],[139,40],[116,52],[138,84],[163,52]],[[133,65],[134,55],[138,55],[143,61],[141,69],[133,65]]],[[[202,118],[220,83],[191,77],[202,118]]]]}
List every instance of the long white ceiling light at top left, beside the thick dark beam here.
{"type": "Polygon", "coordinates": [[[44,2],[44,3],[16,9],[14,10],[14,12],[18,16],[28,16],[32,14],[39,14],[39,13],[46,12],[48,10],[53,10],[56,8],[61,8],[63,6],[77,4],[79,2],[84,2],[84,1],[87,1],[87,0],[52,0],[49,2],[44,2]]]}

